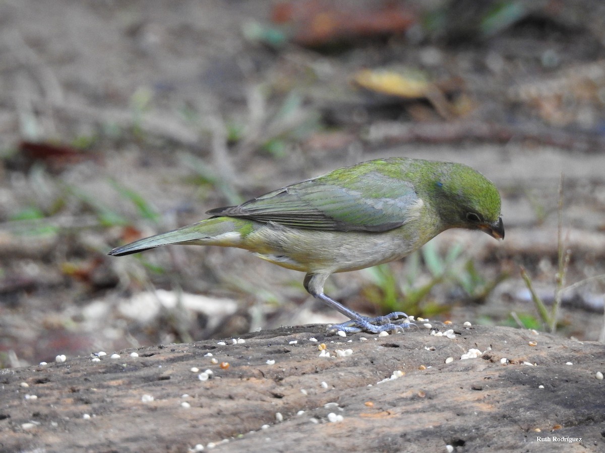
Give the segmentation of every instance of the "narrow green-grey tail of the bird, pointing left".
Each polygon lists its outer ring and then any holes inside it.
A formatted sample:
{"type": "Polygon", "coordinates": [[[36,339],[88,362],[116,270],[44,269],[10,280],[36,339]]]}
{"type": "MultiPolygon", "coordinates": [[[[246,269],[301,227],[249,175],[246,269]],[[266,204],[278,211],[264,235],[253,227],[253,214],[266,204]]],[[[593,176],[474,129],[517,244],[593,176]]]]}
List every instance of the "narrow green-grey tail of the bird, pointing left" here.
{"type": "Polygon", "coordinates": [[[114,248],[110,255],[122,256],[169,244],[223,245],[237,247],[242,236],[253,226],[249,220],[211,217],[168,233],[145,237],[114,248]]]}

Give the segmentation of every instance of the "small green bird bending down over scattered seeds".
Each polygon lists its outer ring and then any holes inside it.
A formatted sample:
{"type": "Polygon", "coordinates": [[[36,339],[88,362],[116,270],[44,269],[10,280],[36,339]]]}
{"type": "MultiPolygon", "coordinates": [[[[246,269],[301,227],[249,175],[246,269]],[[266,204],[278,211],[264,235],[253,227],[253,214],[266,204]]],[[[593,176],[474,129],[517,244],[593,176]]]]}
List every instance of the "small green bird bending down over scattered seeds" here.
{"type": "Polygon", "coordinates": [[[500,194],[491,181],[467,165],[423,159],[362,162],[207,214],[212,217],[115,248],[110,255],[168,244],[249,250],[306,272],[309,294],[350,318],[331,332],[391,332],[410,323],[402,312],[368,318],[333,300],[324,294],[330,274],[403,258],[448,228],[504,238],[500,194]]]}

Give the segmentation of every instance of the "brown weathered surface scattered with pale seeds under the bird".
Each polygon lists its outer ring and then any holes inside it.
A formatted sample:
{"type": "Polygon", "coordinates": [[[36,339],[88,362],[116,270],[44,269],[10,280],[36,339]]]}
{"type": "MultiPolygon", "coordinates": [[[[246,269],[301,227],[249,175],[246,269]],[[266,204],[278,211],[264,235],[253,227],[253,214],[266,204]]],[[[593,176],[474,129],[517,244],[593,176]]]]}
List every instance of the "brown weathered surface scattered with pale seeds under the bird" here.
{"type": "Polygon", "coordinates": [[[602,344],[438,329],[454,335],[283,327],[2,370],[0,451],[605,451],[602,344]]]}

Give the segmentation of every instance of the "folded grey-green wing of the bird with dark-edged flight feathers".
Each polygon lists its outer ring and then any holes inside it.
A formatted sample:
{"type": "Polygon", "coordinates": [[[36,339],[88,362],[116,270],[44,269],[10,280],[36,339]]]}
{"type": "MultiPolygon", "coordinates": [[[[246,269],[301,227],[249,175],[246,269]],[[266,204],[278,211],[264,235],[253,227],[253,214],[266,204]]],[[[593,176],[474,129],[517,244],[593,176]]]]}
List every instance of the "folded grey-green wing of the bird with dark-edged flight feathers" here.
{"type": "Polygon", "coordinates": [[[208,214],[332,231],[388,231],[417,215],[421,201],[411,183],[377,171],[342,170],[208,214]]]}

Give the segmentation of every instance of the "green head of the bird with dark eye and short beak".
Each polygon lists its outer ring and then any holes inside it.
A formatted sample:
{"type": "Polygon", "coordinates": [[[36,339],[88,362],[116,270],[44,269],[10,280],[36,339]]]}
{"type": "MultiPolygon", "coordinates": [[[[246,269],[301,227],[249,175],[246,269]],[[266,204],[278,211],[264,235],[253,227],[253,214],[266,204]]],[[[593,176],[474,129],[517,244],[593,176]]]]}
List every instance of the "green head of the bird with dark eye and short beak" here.
{"type": "Polygon", "coordinates": [[[481,173],[463,164],[448,164],[433,181],[437,211],[447,228],[481,230],[504,239],[500,194],[481,173]]]}

